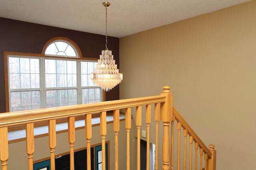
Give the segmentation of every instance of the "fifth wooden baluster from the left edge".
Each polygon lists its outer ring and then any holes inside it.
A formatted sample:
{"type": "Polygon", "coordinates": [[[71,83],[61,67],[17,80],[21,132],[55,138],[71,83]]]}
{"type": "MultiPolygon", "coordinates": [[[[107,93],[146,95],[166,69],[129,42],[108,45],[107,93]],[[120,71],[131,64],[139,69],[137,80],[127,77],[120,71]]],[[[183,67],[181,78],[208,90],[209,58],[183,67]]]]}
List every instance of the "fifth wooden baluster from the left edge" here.
{"type": "Polygon", "coordinates": [[[92,114],[85,115],[85,138],[87,151],[87,169],[91,169],[92,114]]]}

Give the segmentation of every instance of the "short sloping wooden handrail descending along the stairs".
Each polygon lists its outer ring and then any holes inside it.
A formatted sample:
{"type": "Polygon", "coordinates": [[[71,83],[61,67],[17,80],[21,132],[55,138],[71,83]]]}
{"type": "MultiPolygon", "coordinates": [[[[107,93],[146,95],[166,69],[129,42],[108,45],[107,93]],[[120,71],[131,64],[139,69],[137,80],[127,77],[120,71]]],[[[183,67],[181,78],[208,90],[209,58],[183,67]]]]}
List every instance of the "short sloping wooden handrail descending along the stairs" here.
{"type": "Polygon", "coordinates": [[[204,150],[204,152],[206,152],[206,154],[208,155],[209,158],[212,158],[212,153],[210,152],[210,150],[208,149],[208,147],[206,147],[206,145],[203,143],[203,141],[198,137],[198,135],[196,135],[195,131],[190,127],[190,125],[188,125],[188,123],[185,121],[185,119],[180,115],[180,113],[177,111],[177,109],[175,107],[173,107],[173,114],[175,116],[175,119],[181,123],[182,127],[184,129],[186,129],[188,131],[188,134],[190,136],[192,136],[194,138],[194,141],[196,143],[198,143],[198,145],[200,146],[200,148],[202,148],[204,150]]]}

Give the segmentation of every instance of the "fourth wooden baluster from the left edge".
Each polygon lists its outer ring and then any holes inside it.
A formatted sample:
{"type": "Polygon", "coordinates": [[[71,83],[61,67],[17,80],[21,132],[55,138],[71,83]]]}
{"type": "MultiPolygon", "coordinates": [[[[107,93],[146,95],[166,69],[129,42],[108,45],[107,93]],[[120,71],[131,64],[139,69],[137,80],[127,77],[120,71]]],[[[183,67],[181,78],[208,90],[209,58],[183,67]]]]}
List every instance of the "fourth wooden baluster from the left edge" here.
{"type": "Polygon", "coordinates": [[[76,141],[75,117],[68,117],[68,142],[70,147],[70,170],[75,169],[74,143],[76,141]]]}

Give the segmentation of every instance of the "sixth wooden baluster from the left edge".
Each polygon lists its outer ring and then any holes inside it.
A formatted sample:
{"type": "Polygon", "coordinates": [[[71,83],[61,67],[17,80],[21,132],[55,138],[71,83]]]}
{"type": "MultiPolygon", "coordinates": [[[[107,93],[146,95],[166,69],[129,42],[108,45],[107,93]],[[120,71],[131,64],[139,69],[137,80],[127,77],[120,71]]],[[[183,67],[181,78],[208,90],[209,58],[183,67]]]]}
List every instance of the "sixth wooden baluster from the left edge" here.
{"type": "Polygon", "coordinates": [[[106,147],[105,140],[107,134],[107,117],[106,111],[100,112],[100,135],[102,141],[102,170],[106,170],[106,147]]]}

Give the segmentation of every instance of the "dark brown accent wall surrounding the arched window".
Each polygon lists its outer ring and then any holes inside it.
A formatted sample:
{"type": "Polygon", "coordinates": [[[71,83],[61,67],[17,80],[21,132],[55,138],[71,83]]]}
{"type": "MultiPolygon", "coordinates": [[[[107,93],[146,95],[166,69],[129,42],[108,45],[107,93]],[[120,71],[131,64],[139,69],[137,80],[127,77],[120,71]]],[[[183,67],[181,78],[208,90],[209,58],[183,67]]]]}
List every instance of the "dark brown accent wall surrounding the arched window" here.
{"type": "MultiPolygon", "coordinates": [[[[104,50],[106,37],[92,33],[50,27],[35,23],[0,18],[0,113],[6,112],[4,85],[4,51],[41,54],[45,43],[54,37],[73,40],[82,57],[98,58],[104,50]]],[[[108,49],[119,65],[119,38],[108,37],[108,49]]],[[[106,101],[119,99],[119,86],[106,92],[106,101]]]]}

